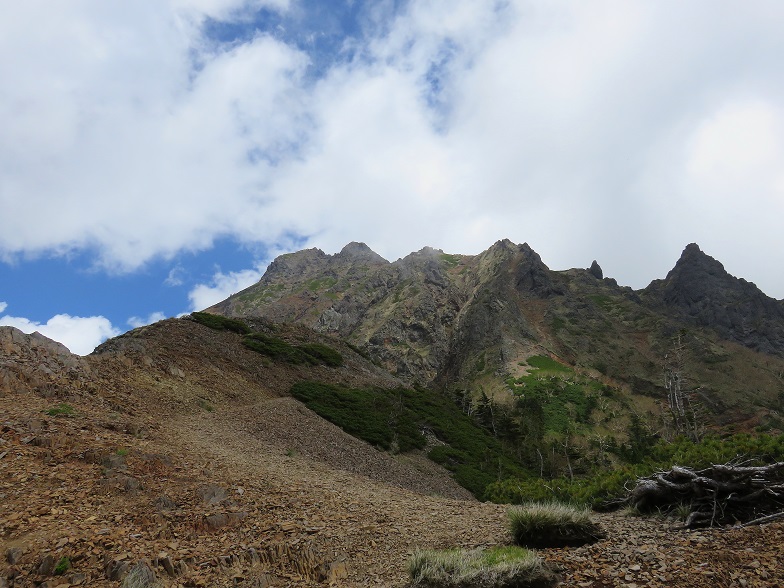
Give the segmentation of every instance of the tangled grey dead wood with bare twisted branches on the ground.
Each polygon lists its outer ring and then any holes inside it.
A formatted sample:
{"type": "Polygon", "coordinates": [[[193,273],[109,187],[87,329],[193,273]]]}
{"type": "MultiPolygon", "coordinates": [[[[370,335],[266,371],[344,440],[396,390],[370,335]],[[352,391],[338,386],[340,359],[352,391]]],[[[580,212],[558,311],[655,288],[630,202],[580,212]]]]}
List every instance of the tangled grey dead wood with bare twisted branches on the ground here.
{"type": "Polygon", "coordinates": [[[640,512],[677,509],[686,528],[764,524],[784,518],[784,462],[673,466],[637,480],[626,502],[640,512]]]}

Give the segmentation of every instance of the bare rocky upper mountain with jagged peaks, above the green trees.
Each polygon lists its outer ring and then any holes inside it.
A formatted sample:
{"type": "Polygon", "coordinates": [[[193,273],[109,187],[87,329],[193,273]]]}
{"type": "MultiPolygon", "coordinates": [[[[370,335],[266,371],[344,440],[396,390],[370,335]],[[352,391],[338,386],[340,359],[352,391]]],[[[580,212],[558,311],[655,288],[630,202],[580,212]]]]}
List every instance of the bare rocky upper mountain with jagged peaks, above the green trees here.
{"type": "Polygon", "coordinates": [[[405,382],[474,398],[508,398],[529,358],[547,357],[628,394],[640,414],[661,412],[665,358],[682,344],[684,378],[710,423],[782,425],[784,303],[695,244],[664,280],[634,291],[596,261],[553,271],[509,240],[395,262],[351,243],[283,255],[208,311],[333,334],[405,382]]]}

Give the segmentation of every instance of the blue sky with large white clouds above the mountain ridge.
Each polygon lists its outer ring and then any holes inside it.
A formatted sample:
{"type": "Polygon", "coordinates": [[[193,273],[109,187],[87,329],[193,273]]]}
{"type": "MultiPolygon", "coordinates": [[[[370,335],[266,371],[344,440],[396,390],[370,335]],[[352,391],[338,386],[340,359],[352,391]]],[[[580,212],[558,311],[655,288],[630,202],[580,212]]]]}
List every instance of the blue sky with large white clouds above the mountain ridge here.
{"type": "Polygon", "coordinates": [[[508,238],[784,298],[780,0],[0,0],[0,325],[88,354],[277,255],[508,238]]]}

